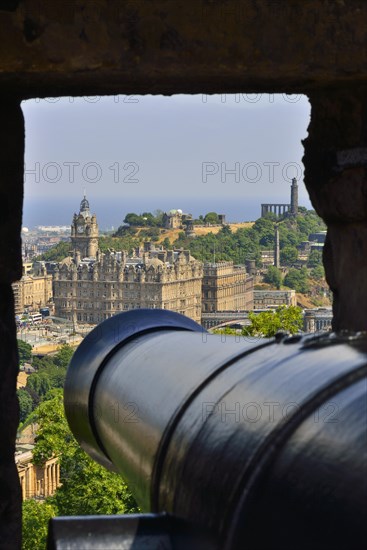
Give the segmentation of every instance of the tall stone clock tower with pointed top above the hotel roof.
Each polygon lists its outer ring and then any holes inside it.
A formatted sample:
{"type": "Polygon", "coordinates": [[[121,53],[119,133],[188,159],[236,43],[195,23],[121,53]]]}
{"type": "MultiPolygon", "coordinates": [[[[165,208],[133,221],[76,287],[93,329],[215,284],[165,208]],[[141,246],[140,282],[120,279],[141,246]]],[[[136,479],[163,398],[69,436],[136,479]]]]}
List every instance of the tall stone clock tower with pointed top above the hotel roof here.
{"type": "Polygon", "coordinates": [[[90,213],[89,202],[84,193],[79,214],[74,214],[71,224],[71,244],[74,255],[81,258],[95,258],[98,250],[98,224],[96,215],[90,213]]]}

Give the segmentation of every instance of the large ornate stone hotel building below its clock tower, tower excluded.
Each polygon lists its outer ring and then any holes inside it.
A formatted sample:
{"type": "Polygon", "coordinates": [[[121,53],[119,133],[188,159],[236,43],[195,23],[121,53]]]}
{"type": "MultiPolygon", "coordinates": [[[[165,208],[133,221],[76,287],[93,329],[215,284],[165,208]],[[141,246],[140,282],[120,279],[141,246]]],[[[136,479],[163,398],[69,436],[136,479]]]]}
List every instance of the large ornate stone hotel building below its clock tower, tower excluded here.
{"type": "Polygon", "coordinates": [[[60,264],[54,272],[55,315],[100,323],[121,311],[170,309],[200,323],[201,262],[188,251],[97,252],[93,260],[60,264]]]}

